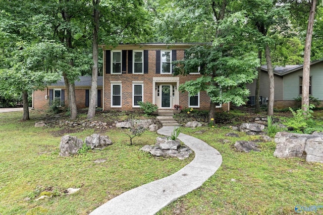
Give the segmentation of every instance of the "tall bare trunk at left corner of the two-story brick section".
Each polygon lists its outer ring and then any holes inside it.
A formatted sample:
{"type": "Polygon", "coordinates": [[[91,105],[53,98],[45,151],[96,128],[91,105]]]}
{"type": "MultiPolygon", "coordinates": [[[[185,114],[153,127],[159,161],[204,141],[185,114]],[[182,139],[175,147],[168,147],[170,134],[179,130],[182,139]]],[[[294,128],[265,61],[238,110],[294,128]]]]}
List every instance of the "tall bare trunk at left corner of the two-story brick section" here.
{"type": "Polygon", "coordinates": [[[97,74],[98,74],[98,31],[99,31],[99,4],[100,0],[92,0],[93,6],[93,66],[92,66],[92,81],[91,81],[91,92],[90,92],[90,101],[89,109],[87,112],[87,118],[93,119],[95,116],[95,107],[96,107],[96,97],[97,97],[97,74]]]}

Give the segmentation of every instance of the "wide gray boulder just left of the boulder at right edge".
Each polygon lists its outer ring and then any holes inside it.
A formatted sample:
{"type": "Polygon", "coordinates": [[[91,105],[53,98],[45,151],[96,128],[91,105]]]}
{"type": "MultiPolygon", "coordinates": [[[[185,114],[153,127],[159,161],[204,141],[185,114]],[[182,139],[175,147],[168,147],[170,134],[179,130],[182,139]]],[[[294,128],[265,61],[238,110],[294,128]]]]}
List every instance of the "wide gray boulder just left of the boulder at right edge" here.
{"type": "Polygon", "coordinates": [[[311,134],[277,132],[275,135],[276,150],[274,156],[278,158],[303,157],[306,140],[311,137],[311,134]]]}

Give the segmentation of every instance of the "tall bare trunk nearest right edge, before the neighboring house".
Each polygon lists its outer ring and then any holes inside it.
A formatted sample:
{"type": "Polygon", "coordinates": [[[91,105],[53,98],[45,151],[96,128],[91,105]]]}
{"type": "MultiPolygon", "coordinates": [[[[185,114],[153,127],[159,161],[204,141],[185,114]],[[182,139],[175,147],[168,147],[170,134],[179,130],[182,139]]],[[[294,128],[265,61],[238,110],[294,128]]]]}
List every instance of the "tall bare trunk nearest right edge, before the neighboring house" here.
{"type": "Polygon", "coordinates": [[[311,60],[311,43],[313,35],[313,24],[315,17],[316,0],[312,0],[309,11],[305,49],[304,49],[304,66],[303,66],[303,83],[302,83],[302,109],[307,111],[309,106],[309,74],[310,74],[310,60],[311,60]]]}

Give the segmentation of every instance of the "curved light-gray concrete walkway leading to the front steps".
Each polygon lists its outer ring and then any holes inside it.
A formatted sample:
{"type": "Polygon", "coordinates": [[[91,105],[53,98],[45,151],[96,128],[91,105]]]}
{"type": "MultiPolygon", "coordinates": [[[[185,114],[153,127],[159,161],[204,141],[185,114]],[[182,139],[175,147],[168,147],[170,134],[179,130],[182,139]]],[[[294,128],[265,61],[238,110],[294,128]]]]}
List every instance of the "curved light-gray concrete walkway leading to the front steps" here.
{"type": "MultiPolygon", "coordinates": [[[[163,127],[157,132],[171,135],[173,130],[174,127],[163,127]]],[[[200,139],[182,133],[178,138],[195,152],[191,163],[173,175],[116,196],[90,214],[155,214],[179,197],[199,188],[219,169],[222,156],[200,139]]]]}

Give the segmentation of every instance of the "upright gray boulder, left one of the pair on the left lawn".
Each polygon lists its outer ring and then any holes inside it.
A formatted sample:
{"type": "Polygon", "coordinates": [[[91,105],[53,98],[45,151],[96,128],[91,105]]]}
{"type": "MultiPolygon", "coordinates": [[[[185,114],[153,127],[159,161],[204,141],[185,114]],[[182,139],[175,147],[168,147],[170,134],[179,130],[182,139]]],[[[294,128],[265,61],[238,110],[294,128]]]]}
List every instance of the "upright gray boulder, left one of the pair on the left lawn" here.
{"type": "Polygon", "coordinates": [[[77,154],[79,149],[83,146],[83,140],[76,136],[65,135],[61,138],[60,143],[60,156],[68,157],[77,154]]]}

